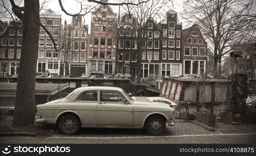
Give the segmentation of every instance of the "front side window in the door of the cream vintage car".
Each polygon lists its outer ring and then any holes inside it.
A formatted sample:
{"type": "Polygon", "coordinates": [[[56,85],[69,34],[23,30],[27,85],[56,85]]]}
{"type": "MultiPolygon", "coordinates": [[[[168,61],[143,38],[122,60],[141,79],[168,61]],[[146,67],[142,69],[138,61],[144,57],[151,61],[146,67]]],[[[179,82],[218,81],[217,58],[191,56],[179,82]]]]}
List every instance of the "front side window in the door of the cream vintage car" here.
{"type": "Polygon", "coordinates": [[[124,97],[117,91],[100,91],[101,102],[124,102],[124,97]]]}

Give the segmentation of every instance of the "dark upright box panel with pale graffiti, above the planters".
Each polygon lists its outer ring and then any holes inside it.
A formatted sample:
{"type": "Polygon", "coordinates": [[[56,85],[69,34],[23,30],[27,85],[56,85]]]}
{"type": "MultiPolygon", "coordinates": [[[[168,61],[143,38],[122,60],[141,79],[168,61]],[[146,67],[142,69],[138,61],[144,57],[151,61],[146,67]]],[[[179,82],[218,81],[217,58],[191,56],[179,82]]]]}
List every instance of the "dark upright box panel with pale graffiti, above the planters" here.
{"type": "Polygon", "coordinates": [[[234,74],[235,99],[246,99],[248,96],[247,74],[234,74]]]}

